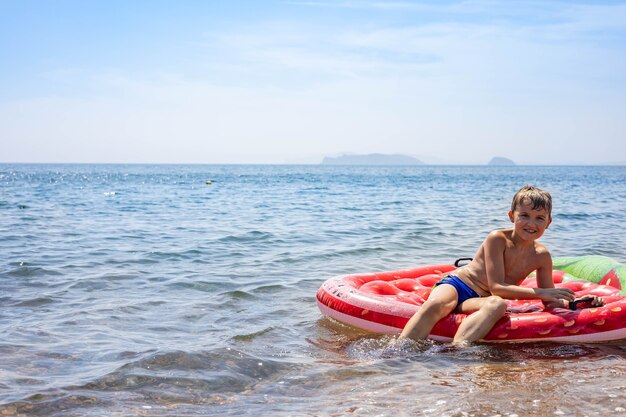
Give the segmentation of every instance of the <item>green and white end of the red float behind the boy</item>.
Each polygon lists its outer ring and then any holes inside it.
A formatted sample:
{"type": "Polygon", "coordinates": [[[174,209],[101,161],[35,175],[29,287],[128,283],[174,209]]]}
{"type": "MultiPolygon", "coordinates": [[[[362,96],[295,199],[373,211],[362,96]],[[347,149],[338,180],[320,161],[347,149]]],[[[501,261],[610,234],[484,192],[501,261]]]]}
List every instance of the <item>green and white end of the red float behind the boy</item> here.
{"type": "Polygon", "coordinates": [[[564,280],[585,280],[610,285],[626,295],[626,265],[608,256],[588,255],[552,259],[552,268],[565,272],[564,280]]]}

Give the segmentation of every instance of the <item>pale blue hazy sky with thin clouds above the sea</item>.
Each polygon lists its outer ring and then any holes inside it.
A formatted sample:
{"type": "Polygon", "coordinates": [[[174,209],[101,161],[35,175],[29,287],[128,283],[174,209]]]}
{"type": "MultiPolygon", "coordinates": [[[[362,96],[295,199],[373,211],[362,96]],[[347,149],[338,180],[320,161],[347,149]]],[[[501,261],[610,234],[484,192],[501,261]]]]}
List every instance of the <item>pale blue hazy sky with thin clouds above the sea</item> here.
{"type": "Polygon", "coordinates": [[[626,164],[626,1],[0,0],[0,162],[626,164]]]}

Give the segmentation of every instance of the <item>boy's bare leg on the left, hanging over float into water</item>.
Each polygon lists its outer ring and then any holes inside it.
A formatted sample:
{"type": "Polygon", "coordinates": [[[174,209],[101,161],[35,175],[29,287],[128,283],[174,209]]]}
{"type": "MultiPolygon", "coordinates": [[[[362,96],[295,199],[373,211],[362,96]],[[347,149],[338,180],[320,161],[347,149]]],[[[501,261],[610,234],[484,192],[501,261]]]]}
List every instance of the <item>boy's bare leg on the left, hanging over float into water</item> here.
{"type": "Polygon", "coordinates": [[[426,302],[404,326],[400,337],[413,340],[426,339],[435,324],[454,310],[457,301],[458,294],[452,285],[436,286],[426,302]]]}

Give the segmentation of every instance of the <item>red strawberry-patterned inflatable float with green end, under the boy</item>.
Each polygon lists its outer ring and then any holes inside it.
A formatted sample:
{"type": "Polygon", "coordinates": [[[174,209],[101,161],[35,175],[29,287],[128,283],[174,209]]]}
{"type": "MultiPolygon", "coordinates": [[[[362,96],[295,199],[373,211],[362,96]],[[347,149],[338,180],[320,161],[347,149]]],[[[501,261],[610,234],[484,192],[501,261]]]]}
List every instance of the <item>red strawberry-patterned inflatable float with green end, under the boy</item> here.
{"type": "MultiPolygon", "coordinates": [[[[605,305],[544,310],[540,300],[507,300],[507,313],[483,341],[588,343],[626,339],[626,266],[602,256],[555,258],[553,265],[557,287],[570,288],[577,297],[601,296],[605,305]]],[[[325,316],[363,330],[400,333],[433,285],[454,269],[454,265],[432,265],[330,278],[317,292],[318,307],[325,316]]],[[[536,287],[537,282],[531,275],[521,285],[536,287]]],[[[465,316],[443,318],[430,338],[451,341],[465,316]]]]}

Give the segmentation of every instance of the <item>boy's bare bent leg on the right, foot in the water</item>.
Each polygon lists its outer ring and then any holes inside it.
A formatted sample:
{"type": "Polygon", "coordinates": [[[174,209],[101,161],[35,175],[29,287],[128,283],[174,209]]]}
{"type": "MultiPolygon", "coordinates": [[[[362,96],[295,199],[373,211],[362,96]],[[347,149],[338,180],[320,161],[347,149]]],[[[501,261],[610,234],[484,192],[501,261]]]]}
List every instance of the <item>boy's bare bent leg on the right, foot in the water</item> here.
{"type": "Polygon", "coordinates": [[[493,325],[504,316],[506,302],[497,296],[469,298],[455,312],[469,316],[459,326],[454,343],[475,342],[487,336],[493,325]]]}

